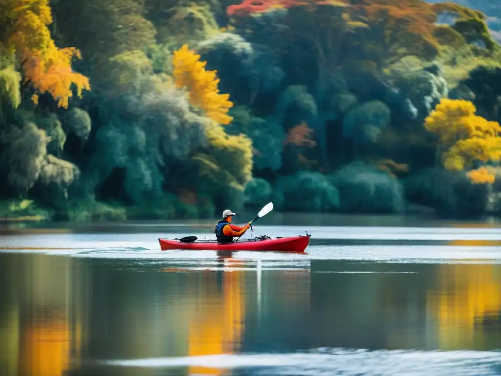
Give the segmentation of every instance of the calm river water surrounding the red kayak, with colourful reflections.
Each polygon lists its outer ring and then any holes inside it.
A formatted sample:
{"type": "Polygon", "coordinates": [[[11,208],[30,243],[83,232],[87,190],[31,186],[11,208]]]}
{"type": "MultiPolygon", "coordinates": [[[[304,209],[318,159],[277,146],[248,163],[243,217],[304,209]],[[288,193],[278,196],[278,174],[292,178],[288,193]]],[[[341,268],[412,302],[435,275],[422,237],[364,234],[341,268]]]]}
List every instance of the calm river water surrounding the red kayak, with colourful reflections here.
{"type": "Polygon", "coordinates": [[[0,374],[501,374],[501,225],[344,222],[255,226],[308,231],[299,255],[160,250],[210,223],[4,231],[0,374]]]}

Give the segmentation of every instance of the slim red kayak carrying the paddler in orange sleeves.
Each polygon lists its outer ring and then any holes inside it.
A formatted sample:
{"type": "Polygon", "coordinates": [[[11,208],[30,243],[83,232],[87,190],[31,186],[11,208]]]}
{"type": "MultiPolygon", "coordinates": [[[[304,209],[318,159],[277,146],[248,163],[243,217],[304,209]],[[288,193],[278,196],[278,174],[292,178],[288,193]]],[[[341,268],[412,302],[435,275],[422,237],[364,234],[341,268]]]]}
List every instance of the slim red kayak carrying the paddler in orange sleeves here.
{"type": "Polygon", "coordinates": [[[257,238],[231,243],[218,243],[215,240],[198,240],[192,243],[180,242],[179,239],[158,239],[162,251],[173,249],[191,249],[206,251],[282,251],[304,252],[311,235],[293,238],[257,238]]]}

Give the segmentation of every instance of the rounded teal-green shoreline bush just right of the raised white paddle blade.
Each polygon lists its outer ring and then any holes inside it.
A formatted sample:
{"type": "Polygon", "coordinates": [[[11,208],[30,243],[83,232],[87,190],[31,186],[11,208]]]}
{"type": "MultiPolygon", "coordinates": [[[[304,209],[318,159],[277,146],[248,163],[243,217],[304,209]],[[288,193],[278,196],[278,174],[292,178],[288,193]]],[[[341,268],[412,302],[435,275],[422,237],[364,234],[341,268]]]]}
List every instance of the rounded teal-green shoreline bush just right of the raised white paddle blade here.
{"type": "Polygon", "coordinates": [[[327,176],[302,171],[281,176],[274,185],[273,203],[288,212],[333,212],[339,208],[339,193],[327,176]]]}

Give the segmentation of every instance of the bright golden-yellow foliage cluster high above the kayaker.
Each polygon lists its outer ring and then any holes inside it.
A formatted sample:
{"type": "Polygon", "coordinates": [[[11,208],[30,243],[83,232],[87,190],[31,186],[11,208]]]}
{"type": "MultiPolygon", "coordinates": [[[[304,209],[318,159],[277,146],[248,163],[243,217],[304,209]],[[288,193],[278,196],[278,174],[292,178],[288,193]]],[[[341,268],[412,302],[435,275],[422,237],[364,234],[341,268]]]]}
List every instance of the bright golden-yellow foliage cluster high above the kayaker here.
{"type": "Polygon", "coordinates": [[[217,71],[205,70],[207,62],[199,61],[200,55],[183,45],[173,56],[173,76],[177,87],[186,88],[189,92],[190,103],[205,112],[205,114],[219,124],[229,124],[233,117],[227,114],[233,103],[229,101],[229,94],[219,94],[216,77],[217,71]]]}

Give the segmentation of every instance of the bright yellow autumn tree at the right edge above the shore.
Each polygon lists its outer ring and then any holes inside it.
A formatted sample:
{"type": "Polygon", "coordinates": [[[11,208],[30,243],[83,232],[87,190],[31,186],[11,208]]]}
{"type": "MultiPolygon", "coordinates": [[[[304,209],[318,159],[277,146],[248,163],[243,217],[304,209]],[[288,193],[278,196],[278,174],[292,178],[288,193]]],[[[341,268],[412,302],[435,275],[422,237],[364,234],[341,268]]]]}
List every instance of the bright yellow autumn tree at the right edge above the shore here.
{"type": "MultiPolygon", "coordinates": [[[[475,115],[473,103],[442,99],[425,119],[424,127],[438,136],[442,162],[448,170],[471,170],[476,162],[501,159],[501,127],[475,115]]],[[[469,174],[485,177],[485,171],[469,174]]]]}

